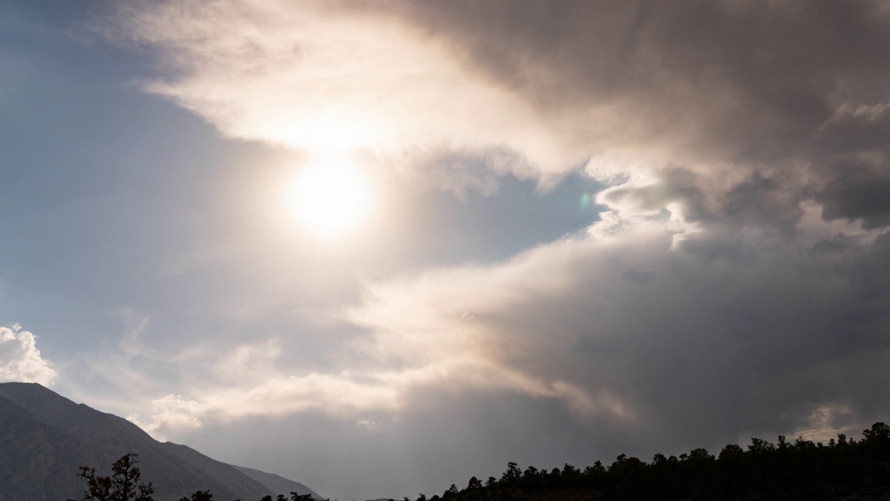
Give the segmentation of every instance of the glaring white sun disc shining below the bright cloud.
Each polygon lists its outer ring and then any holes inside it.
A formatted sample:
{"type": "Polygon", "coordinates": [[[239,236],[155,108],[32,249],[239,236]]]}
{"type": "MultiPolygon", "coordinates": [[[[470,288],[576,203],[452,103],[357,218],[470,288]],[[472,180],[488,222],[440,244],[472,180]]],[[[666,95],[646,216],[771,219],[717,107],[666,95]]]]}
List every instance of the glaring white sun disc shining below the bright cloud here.
{"type": "Polygon", "coordinates": [[[330,165],[304,169],[288,195],[300,225],[324,239],[358,230],[371,204],[368,180],[358,169],[330,165]]]}

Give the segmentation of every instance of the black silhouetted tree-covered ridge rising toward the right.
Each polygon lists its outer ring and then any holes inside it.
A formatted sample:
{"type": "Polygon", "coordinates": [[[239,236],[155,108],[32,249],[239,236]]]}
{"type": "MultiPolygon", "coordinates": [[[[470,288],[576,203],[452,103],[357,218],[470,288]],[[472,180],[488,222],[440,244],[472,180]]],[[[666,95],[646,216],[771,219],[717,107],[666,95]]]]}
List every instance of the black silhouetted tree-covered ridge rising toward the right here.
{"type": "Polygon", "coordinates": [[[597,461],[584,470],[522,471],[510,463],[500,479],[473,477],[465,489],[452,485],[417,501],[890,499],[890,426],[875,423],[862,435],[841,434],[828,444],[751,439],[747,450],[732,444],[713,456],[696,448],[679,457],[656,454],[651,463],[622,454],[608,467],[597,461]]]}

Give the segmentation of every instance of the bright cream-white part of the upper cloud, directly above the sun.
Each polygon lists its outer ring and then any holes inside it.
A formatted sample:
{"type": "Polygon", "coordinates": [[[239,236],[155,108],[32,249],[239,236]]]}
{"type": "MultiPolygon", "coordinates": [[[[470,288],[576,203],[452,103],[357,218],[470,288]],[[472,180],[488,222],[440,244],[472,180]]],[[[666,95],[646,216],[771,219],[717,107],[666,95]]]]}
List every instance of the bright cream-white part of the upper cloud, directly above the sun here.
{"type": "Polygon", "coordinates": [[[114,21],[98,29],[118,43],[161,49],[170,76],[143,88],[227,136],[320,156],[364,151],[388,168],[506,147],[521,156],[475,158],[520,177],[560,174],[587,158],[586,145],[546,124],[530,103],[389,16],[312,2],[171,2],[120,7],[114,21]]]}

